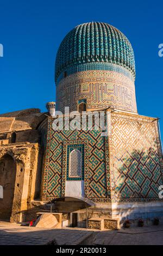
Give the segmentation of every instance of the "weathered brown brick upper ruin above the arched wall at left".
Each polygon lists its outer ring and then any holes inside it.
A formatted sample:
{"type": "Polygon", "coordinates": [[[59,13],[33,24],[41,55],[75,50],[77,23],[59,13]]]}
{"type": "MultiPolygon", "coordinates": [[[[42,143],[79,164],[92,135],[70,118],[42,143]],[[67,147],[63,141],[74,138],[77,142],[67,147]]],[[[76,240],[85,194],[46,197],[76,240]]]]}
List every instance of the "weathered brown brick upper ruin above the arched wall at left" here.
{"type": "Polygon", "coordinates": [[[37,127],[45,118],[46,115],[35,108],[0,114],[0,145],[13,143],[13,133],[15,142],[40,143],[37,127]]]}

